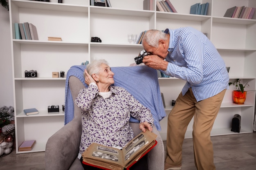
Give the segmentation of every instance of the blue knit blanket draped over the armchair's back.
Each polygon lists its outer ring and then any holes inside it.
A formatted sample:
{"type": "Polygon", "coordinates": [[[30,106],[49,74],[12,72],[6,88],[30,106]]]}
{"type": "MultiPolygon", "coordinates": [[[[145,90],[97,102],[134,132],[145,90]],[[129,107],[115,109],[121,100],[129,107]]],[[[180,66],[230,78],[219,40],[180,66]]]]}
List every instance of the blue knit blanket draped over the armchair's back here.
{"type": "MultiPolygon", "coordinates": [[[[87,87],[83,77],[85,68],[86,66],[72,66],[69,71],[67,71],[65,88],[65,124],[74,118],[74,103],[68,85],[69,77],[78,77],[85,87],[87,87]]],[[[157,71],[148,66],[111,67],[111,70],[115,73],[114,86],[125,88],[135,97],[135,99],[145,107],[149,108],[153,115],[154,124],[157,130],[161,130],[159,121],[166,116],[166,113],[162,103],[157,71]]],[[[130,121],[139,123],[139,121],[133,117],[130,118],[130,121]]]]}

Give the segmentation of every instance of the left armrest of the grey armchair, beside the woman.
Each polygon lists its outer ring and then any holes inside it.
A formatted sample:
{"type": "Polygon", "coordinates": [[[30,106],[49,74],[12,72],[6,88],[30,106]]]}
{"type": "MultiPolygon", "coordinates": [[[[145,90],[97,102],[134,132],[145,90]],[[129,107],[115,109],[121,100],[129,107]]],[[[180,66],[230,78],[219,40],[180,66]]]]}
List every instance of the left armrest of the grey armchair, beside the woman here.
{"type": "Polygon", "coordinates": [[[68,170],[79,153],[82,124],[74,117],[52,135],[45,148],[45,170],[68,170]]]}

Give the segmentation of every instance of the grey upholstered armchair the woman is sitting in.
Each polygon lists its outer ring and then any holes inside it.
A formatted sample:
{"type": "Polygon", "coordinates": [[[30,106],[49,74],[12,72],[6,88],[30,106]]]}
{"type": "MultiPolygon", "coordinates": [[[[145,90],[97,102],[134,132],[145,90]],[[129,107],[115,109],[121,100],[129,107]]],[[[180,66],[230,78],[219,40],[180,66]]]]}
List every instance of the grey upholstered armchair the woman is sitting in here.
{"type": "MultiPolygon", "coordinates": [[[[69,86],[73,101],[79,90],[85,88],[81,80],[75,76],[69,77],[69,86]]],[[[138,123],[130,122],[130,125],[135,135],[141,132],[138,123]]],[[[164,170],[164,144],[155,126],[153,126],[153,132],[157,134],[157,145],[146,155],[148,167],[149,170],[164,170]]],[[[47,141],[45,149],[46,170],[83,170],[80,160],[77,158],[81,133],[81,109],[74,105],[74,119],[47,141]]]]}

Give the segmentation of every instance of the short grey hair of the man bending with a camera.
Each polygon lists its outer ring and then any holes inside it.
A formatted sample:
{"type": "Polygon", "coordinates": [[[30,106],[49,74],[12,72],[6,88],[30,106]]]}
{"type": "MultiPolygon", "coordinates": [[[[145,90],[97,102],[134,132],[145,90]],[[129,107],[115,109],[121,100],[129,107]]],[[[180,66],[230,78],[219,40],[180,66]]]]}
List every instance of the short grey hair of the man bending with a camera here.
{"type": "Polygon", "coordinates": [[[168,36],[163,31],[151,29],[148,30],[142,38],[142,45],[144,46],[144,42],[148,45],[153,46],[155,48],[158,47],[159,40],[167,40],[168,36]]]}

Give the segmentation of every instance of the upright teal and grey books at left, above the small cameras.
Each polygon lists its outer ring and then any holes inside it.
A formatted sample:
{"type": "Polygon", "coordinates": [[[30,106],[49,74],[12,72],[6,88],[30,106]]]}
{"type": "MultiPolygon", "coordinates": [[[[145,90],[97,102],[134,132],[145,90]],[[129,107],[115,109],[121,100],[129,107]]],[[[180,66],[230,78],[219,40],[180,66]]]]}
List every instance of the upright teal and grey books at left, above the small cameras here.
{"type": "Polygon", "coordinates": [[[14,23],[15,39],[38,40],[36,26],[31,23],[14,23]]]}

